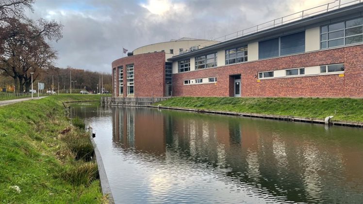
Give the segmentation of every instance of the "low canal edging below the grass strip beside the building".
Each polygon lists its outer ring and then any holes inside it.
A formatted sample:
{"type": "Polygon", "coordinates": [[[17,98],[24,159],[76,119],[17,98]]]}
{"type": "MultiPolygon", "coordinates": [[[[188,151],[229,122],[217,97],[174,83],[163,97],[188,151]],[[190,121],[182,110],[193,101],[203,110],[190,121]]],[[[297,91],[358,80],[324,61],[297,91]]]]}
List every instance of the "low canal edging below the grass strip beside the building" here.
{"type": "MultiPolygon", "coordinates": [[[[292,122],[326,124],[324,119],[317,119],[317,118],[304,118],[304,117],[285,116],[285,115],[269,115],[269,114],[259,114],[259,113],[243,113],[243,112],[217,111],[217,110],[185,109],[185,108],[177,108],[177,107],[164,107],[164,106],[160,106],[160,105],[159,106],[149,105],[148,107],[158,108],[158,109],[183,110],[183,111],[200,112],[200,113],[212,113],[212,114],[220,114],[220,115],[233,115],[233,116],[242,116],[242,117],[249,117],[249,118],[252,117],[252,118],[264,118],[264,119],[272,119],[272,120],[292,121],[292,122]]],[[[362,122],[349,122],[349,121],[331,121],[331,120],[329,120],[329,125],[363,127],[362,122]]]]}

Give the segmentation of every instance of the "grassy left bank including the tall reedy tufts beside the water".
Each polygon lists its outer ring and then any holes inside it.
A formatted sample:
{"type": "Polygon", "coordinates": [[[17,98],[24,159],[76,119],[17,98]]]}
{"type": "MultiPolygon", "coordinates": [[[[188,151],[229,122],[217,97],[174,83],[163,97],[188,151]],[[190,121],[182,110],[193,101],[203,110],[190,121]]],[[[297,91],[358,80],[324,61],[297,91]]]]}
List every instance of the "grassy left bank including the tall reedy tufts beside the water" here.
{"type": "Polygon", "coordinates": [[[1,203],[102,203],[97,164],[82,122],[71,125],[64,94],[0,107],[1,203]]]}

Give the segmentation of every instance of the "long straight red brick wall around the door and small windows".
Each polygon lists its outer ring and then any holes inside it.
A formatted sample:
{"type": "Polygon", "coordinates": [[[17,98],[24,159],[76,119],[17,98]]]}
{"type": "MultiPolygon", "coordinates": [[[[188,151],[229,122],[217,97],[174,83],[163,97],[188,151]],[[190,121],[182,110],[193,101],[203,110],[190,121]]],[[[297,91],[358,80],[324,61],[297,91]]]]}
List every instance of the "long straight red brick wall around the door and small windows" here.
{"type": "Polygon", "coordinates": [[[230,76],[241,75],[247,97],[363,97],[363,45],[342,47],[250,63],[173,75],[173,96],[230,96],[230,76]],[[345,63],[345,77],[336,75],[264,79],[261,71],[345,63]],[[217,84],[183,85],[185,79],[217,77],[217,84]]]}

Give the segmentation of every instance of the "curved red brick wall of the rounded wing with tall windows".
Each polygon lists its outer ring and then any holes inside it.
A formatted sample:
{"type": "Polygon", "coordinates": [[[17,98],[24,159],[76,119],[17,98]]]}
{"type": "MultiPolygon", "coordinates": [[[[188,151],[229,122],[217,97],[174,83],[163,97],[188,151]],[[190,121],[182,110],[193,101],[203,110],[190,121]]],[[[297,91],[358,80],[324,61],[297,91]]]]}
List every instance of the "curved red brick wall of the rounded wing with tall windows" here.
{"type": "MultiPolygon", "coordinates": [[[[134,93],[137,97],[163,97],[165,93],[165,52],[153,52],[147,54],[124,57],[112,62],[112,68],[116,67],[118,93],[118,66],[123,66],[124,73],[124,97],[127,96],[127,68],[126,65],[134,65],[134,93]]],[[[122,96],[120,96],[122,97],[122,96]]]]}

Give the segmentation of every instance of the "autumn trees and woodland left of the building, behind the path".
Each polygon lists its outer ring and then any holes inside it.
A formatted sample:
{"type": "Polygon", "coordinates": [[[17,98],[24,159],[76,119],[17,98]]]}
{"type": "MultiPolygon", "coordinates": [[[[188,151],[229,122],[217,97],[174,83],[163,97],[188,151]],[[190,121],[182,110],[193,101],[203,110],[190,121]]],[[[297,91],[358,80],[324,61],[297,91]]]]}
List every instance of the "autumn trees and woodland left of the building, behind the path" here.
{"type": "MultiPolygon", "coordinates": [[[[6,86],[12,80],[11,87],[16,93],[28,92],[33,74],[35,87],[37,82],[43,82],[47,90],[57,90],[58,85],[60,90],[69,90],[72,83],[74,88],[97,91],[100,73],[54,66],[57,52],[49,42],[58,42],[63,37],[63,25],[55,20],[24,16],[25,10],[33,12],[33,3],[34,0],[0,0],[0,83],[6,86]]],[[[103,87],[112,91],[110,74],[103,75],[103,87]]]]}

